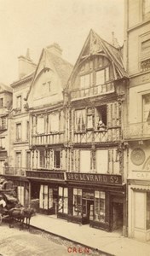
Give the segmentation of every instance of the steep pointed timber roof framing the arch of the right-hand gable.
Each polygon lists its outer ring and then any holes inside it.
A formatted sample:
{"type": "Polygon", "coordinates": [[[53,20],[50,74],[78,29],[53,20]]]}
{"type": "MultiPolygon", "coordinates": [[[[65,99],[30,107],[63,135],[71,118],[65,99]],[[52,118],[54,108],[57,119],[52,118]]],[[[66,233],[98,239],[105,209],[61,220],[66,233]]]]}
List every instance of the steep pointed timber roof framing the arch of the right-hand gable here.
{"type": "MultiPolygon", "coordinates": [[[[78,60],[76,61],[69,81],[75,75],[76,70],[81,62],[88,59],[91,55],[100,54],[106,56],[112,62],[114,79],[129,78],[128,74],[124,69],[121,50],[115,48],[112,44],[107,43],[107,41],[102,39],[97,33],[95,33],[91,29],[89,32],[89,36],[84,43],[83,49],[78,56],[78,60]]],[[[67,86],[69,86],[69,83],[67,84],[67,86]]]]}

